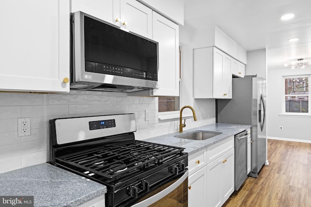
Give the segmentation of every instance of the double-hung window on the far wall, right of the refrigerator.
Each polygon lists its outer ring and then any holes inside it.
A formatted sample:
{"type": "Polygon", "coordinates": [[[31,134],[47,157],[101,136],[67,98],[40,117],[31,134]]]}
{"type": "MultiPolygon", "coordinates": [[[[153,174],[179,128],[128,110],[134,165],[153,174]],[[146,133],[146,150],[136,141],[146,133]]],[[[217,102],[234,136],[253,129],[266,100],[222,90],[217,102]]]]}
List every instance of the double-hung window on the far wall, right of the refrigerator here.
{"type": "Polygon", "coordinates": [[[283,77],[285,113],[310,113],[310,79],[311,75],[283,77]]]}

